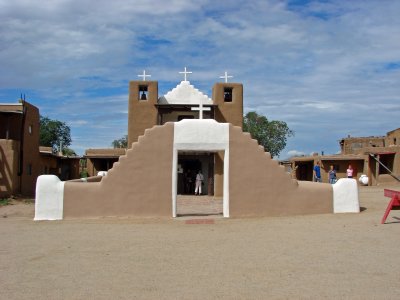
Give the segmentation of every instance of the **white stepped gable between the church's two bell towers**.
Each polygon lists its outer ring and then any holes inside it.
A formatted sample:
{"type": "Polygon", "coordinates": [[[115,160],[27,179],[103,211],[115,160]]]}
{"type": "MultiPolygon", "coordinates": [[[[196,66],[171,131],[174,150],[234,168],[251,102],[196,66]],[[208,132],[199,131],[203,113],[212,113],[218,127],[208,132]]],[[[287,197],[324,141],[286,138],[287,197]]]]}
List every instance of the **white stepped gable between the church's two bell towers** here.
{"type": "Polygon", "coordinates": [[[174,89],[158,99],[158,104],[213,104],[213,101],[196,89],[189,81],[182,81],[174,89]]]}

